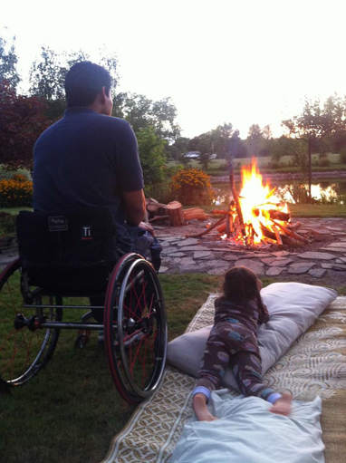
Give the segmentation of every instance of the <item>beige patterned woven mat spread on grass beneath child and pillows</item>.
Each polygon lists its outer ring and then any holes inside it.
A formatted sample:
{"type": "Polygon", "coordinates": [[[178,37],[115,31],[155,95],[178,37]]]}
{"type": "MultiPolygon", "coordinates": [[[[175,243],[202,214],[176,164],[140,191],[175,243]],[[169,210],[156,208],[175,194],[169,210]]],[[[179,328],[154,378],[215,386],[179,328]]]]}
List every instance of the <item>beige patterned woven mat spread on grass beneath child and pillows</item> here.
{"type": "MultiPolygon", "coordinates": [[[[213,323],[214,299],[187,327],[196,331],[213,323]]],[[[159,391],[136,410],[126,428],[111,442],[101,463],[168,462],[190,419],[196,379],[168,367],[159,391]]],[[[322,431],[326,463],[344,463],[346,455],[346,297],[338,297],[312,328],[274,366],[264,381],[295,400],[322,398],[322,431]]]]}

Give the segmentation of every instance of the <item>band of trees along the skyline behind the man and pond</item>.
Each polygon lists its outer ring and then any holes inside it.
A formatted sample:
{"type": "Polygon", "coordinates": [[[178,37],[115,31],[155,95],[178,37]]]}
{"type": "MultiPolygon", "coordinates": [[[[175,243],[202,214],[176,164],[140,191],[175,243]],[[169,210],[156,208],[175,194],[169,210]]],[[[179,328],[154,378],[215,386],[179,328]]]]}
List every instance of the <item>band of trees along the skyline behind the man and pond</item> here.
{"type": "MultiPolygon", "coordinates": [[[[55,53],[42,46],[31,66],[26,94],[18,94],[15,38],[0,36],[0,164],[3,169],[32,167],[34,141],[45,127],[62,117],[66,108],[63,82],[73,63],[89,59],[82,50],[55,53]]],[[[270,157],[273,166],[285,155],[292,156],[311,180],[312,153],[346,152],[346,97],[334,94],[326,101],[306,99],[300,114],[282,121],[285,134],[274,138],[269,125],[253,124],[244,139],[230,122],[218,125],[192,139],[181,135],[177,108],[170,98],[149,100],[138,93],[117,92],[118,58],[100,50],[99,63],[111,72],[113,115],[130,122],[139,140],[139,155],[145,178],[164,179],[166,160],[187,163],[188,151],[199,151],[205,168],[211,155],[219,159],[270,157]]],[[[346,162],[346,159],[345,159],[346,162]]]]}

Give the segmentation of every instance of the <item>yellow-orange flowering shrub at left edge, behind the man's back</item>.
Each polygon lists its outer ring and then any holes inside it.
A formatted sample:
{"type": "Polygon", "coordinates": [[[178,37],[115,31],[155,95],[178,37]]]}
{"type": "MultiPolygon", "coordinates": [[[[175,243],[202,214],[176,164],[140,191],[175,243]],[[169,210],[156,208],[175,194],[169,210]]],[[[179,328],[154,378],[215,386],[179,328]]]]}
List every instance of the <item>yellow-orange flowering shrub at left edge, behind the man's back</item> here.
{"type": "Polygon", "coordinates": [[[0,207],[31,207],[33,182],[21,174],[0,181],[0,207]]]}

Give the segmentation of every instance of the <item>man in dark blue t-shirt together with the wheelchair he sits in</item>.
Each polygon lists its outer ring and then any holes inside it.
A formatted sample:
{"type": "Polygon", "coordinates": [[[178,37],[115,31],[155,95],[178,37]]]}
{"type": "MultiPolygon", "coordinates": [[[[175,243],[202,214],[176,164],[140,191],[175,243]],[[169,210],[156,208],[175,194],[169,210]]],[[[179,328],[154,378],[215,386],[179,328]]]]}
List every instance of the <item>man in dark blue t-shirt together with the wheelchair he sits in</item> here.
{"type": "Polygon", "coordinates": [[[101,66],[73,65],[65,90],[62,120],[34,146],[34,212],[17,218],[19,258],[0,274],[0,391],[34,377],[62,330],[78,330],[78,346],[101,330],[113,381],[137,403],[159,388],[168,339],[137,140],[111,117],[101,66]]]}

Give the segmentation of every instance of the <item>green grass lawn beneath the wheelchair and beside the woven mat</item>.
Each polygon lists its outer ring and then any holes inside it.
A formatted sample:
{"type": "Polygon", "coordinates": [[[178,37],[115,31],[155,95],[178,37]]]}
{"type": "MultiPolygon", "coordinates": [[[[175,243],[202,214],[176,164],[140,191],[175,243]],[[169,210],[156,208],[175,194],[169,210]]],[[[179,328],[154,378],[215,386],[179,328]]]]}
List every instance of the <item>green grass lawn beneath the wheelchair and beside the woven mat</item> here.
{"type": "MultiPolygon", "coordinates": [[[[212,275],[161,275],[169,339],[219,289],[212,275]]],[[[1,312],[1,311],[0,311],[1,312]]],[[[61,332],[53,359],[37,376],[10,395],[0,395],[0,455],[6,463],[98,462],[111,439],[135,410],[120,399],[111,381],[97,333],[83,349],[77,333],[61,332]]]]}

